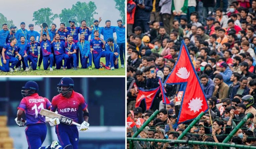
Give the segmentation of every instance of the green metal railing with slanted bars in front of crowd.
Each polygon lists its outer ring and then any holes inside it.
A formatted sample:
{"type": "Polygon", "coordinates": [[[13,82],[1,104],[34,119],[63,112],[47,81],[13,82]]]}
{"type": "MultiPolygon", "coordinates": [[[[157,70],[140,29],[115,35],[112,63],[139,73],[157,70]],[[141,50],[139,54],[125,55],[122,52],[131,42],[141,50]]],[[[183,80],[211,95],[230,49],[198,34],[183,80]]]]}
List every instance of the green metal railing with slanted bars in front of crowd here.
{"type": "Polygon", "coordinates": [[[228,134],[228,136],[223,140],[222,143],[216,143],[216,142],[206,142],[206,141],[186,141],[182,140],[183,137],[189,132],[189,130],[200,120],[200,118],[204,115],[204,112],[201,112],[190,124],[189,126],[183,131],[183,133],[177,138],[177,140],[170,140],[170,139],[152,139],[152,138],[136,138],[140,132],[150,123],[151,120],[156,117],[156,115],[159,113],[158,110],[156,110],[149,119],[140,127],[140,129],[137,130],[137,132],[132,137],[127,137],[127,140],[130,141],[130,149],[133,149],[133,141],[150,141],[150,142],[169,142],[169,143],[181,143],[181,144],[194,144],[194,145],[207,145],[207,146],[217,146],[217,147],[235,147],[235,148],[241,148],[241,149],[256,149],[256,146],[249,146],[249,145],[239,145],[239,144],[230,144],[226,143],[228,142],[233,135],[237,132],[239,128],[243,126],[243,124],[250,118],[251,113],[248,113],[242,121],[228,134]]]}

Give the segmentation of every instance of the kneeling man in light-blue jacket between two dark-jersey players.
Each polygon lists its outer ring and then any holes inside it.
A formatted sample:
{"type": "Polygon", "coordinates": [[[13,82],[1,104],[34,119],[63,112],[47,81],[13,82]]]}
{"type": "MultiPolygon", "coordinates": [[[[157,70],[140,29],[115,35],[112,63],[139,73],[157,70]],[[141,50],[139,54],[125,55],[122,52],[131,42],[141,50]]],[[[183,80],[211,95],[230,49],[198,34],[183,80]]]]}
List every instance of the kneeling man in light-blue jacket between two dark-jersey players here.
{"type": "Polygon", "coordinates": [[[92,54],[90,51],[90,43],[85,40],[85,36],[83,33],[80,34],[80,42],[77,43],[77,49],[79,49],[79,51],[81,52],[82,68],[89,67],[89,70],[92,70],[92,54]]]}

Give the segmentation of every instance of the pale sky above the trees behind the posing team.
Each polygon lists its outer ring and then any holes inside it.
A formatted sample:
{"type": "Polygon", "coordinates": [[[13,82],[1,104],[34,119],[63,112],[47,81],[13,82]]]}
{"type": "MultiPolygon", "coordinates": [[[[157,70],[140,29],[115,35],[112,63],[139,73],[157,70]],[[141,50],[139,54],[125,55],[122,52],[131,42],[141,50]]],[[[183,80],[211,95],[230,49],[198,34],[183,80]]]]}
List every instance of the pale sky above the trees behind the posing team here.
{"type": "MultiPolygon", "coordinates": [[[[14,25],[17,26],[18,29],[20,29],[20,22],[25,22],[26,29],[29,30],[28,25],[35,24],[35,22],[32,21],[34,11],[49,7],[54,14],[60,14],[62,9],[72,8],[72,5],[77,1],[78,0],[8,0],[4,2],[4,7],[1,8],[0,13],[7,17],[7,20],[13,20],[14,25]]],[[[98,14],[94,15],[94,18],[102,18],[102,22],[99,26],[104,26],[106,20],[110,20],[111,25],[117,26],[116,21],[121,19],[121,17],[119,16],[119,11],[115,9],[116,3],[114,0],[80,0],[80,2],[86,3],[89,1],[93,1],[97,6],[96,12],[98,12],[98,14]]],[[[54,23],[59,27],[59,18],[55,19],[54,23]]],[[[90,25],[91,24],[90,22],[90,25]]],[[[39,31],[40,27],[34,26],[34,30],[39,31]]]]}

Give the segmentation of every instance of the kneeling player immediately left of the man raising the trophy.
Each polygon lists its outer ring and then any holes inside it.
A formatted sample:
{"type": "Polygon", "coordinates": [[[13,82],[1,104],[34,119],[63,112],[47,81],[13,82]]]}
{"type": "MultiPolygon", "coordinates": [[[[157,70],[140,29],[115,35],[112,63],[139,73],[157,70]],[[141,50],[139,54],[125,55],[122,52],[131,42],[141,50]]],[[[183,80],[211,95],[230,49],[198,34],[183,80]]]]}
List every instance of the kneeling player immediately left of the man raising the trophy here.
{"type": "Polygon", "coordinates": [[[40,43],[35,42],[35,37],[30,37],[30,43],[27,43],[24,51],[24,63],[26,66],[26,72],[29,71],[28,68],[28,60],[31,61],[30,65],[33,70],[36,70],[37,67],[37,61],[38,61],[38,46],[40,46],[40,43]],[[27,54],[28,51],[28,54],[27,54]]]}

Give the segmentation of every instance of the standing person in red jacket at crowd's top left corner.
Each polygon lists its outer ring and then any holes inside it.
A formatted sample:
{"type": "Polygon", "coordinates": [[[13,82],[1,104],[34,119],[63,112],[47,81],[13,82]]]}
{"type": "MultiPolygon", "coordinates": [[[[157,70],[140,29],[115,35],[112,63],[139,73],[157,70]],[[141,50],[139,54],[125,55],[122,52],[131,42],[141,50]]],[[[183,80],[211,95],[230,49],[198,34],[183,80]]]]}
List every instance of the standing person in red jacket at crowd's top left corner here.
{"type": "Polygon", "coordinates": [[[132,34],[136,4],[133,0],[127,0],[127,37],[132,34]]]}

